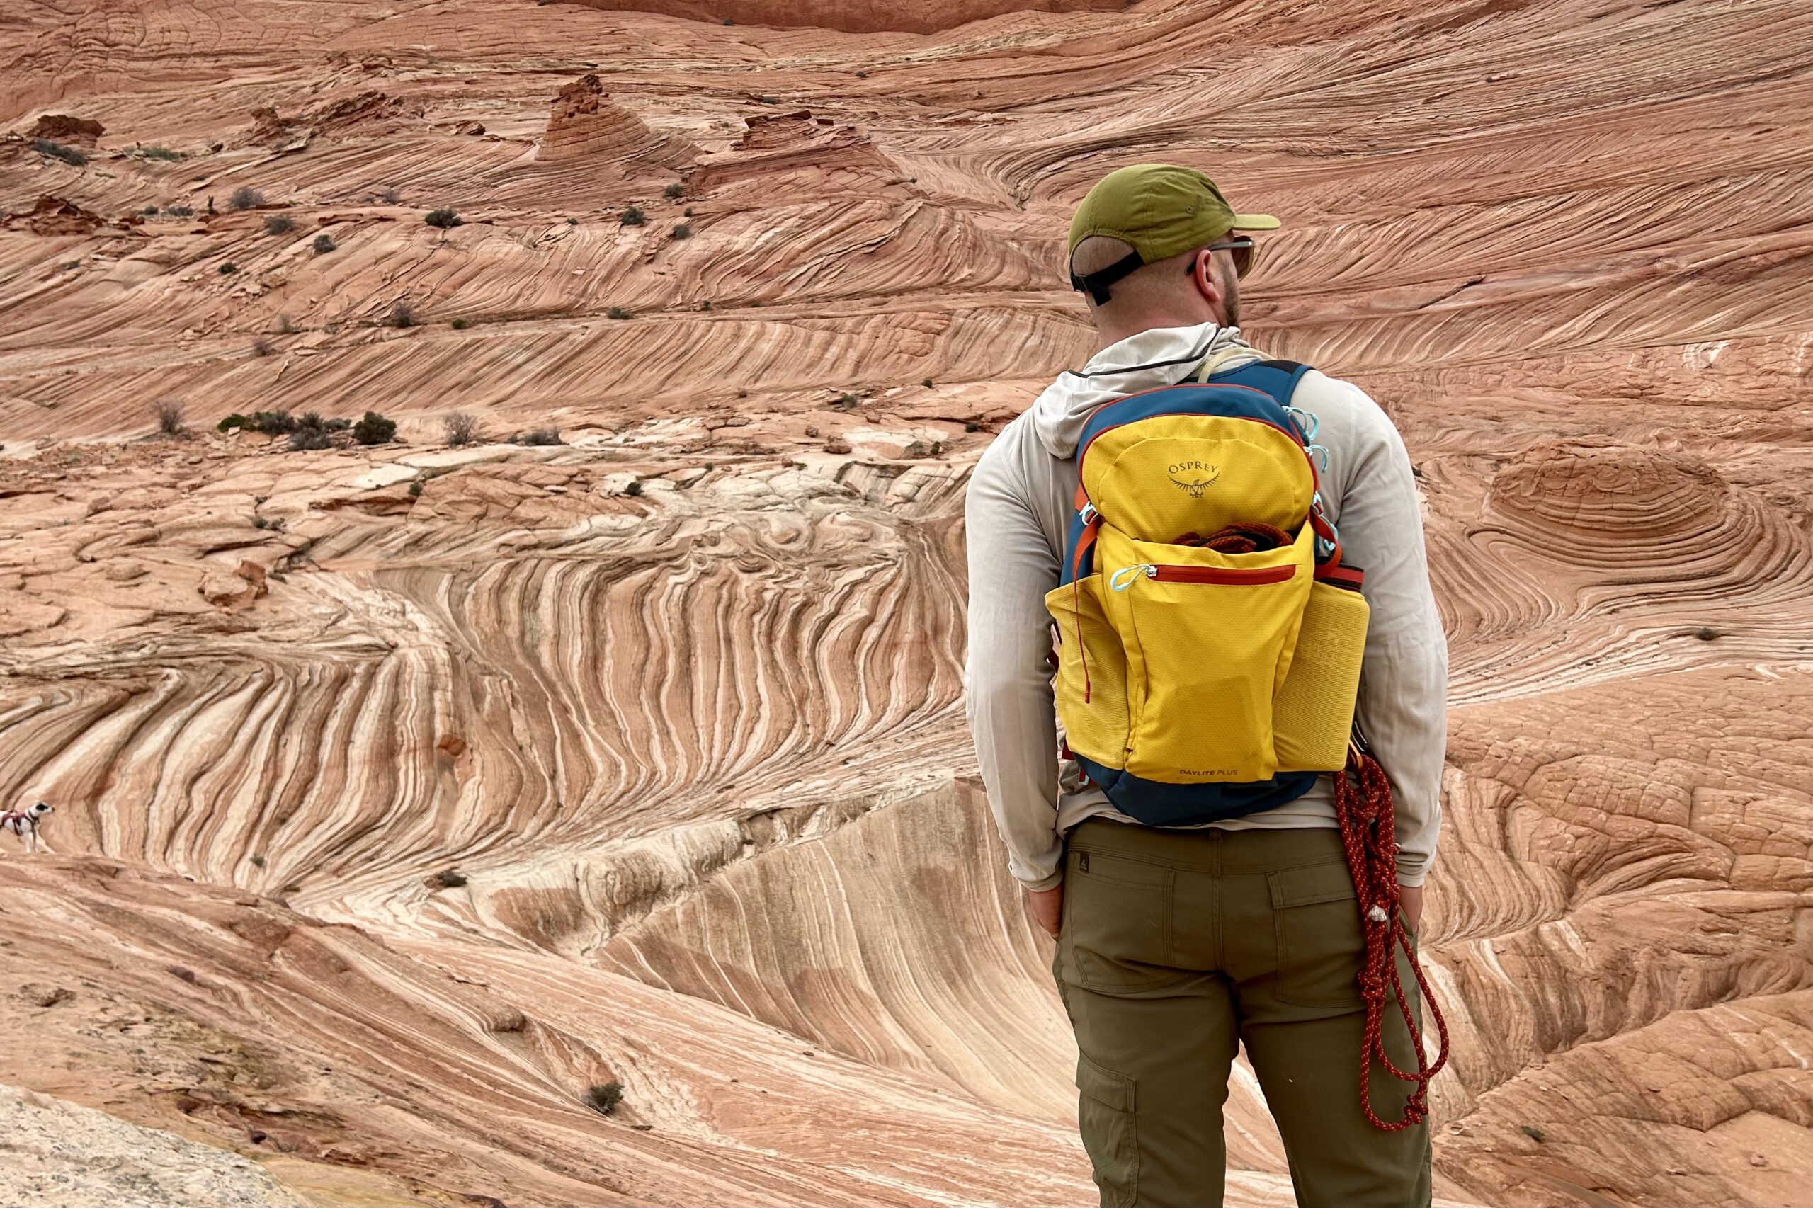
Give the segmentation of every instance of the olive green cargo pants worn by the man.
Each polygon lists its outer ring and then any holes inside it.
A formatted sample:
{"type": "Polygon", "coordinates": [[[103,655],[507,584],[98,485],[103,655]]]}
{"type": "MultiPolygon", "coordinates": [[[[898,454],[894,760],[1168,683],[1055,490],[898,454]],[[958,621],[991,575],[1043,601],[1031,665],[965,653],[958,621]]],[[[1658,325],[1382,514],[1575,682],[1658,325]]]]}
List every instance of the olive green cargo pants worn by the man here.
{"type": "MultiPolygon", "coordinates": [[[[1082,1052],[1079,1123],[1104,1206],[1222,1203],[1222,1105],[1242,1043],[1298,1204],[1429,1204],[1429,1125],[1382,1132],[1360,1110],[1363,938],[1336,831],[1084,822],[1064,854],[1059,930],[1052,969],[1082,1052]]],[[[1414,998],[1401,954],[1398,970],[1414,998]]],[[[1385,1048],[1416,1068],[1392,999],[1385,1048]]],[[[1400,1119],[1411,1090],[1372,1070],[1382,1119],[1400,1119]]]]}

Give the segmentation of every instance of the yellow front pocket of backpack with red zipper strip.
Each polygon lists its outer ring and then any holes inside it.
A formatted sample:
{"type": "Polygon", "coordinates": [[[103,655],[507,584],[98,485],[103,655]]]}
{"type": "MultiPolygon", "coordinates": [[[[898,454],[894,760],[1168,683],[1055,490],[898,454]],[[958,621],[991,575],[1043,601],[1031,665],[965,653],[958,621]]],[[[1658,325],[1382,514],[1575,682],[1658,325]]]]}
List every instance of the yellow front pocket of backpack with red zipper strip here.
{"type": "Polygon", "coordinates": [[[1129,541],[1131,559],[1104,568],[1124,600],[1110,608],[1128,620],[1131,774],[1215,784],[1278,771],[1273,697],[1296,648],[1313,541],[1307,524],[1294,544],[1255,553],[1129,541]]]}

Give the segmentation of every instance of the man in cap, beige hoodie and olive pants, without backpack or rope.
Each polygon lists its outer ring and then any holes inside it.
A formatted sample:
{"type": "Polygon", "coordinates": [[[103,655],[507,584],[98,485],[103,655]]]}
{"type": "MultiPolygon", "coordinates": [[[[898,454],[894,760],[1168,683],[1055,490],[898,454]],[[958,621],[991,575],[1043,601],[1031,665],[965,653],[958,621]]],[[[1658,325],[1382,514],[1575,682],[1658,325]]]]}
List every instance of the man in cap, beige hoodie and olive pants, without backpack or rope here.
{"type": "MultiPolygon", "coordinates": [[[[1115,399],[1265,361],[1240,337],[1240,276],[1278,219],[1238,216],[1202,172],[1106,176],[1070,227],[1071,283],[1099,352],[1010,423],[968,488],[970,727],[1010,867],[1077,1034],[1079,1119],[1102,1204],[1220,1204],[1222,1105],[1240,1043],[1278,1121],[1298,1203],[1429,1204],[1429,1126],[1362,1110],[1362,923],[1333,778],[1282,805],[1189,829],[1115,811],[1059,760],[1052,617],[1077,508],[1077,441],[1115,399]],[[1093,863],[1091,863],[1093,862],[1093,863]]],[[[1396,798],[1405,927],[1440,825],[1447,646],[1429,588],[1411,463],[1391,419],[1314,370],[1287,403],[1316,419],[1320,492],[1371,604],[1356,722],[1396,798]]],[[[1401,981],[1418,1010],[1414,979],[1401,981]]],[[[1387,999],[1385,1048],[1416,1070],[1387,999]]],[[[1376,1063],[1371,1103],[1403,1117],[1411,1086],[1376,1063]]]]}

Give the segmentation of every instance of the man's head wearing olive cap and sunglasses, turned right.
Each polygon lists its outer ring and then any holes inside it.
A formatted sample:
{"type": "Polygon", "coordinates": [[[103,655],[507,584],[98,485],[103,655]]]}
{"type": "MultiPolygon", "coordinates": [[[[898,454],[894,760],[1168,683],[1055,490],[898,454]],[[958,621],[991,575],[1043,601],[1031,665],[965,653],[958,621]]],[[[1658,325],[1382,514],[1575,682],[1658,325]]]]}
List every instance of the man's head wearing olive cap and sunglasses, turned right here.
{"type": "Polygon", "coordinates": [[[1090,299],[1104,343],[1153,326],[1240,321],[1238,278],[1251,263],[1244,230],[1269,214],[1235,214],[1207,176],[1135,163],[1104,176],[1070,223],[1070,283],[1090,299]]]}

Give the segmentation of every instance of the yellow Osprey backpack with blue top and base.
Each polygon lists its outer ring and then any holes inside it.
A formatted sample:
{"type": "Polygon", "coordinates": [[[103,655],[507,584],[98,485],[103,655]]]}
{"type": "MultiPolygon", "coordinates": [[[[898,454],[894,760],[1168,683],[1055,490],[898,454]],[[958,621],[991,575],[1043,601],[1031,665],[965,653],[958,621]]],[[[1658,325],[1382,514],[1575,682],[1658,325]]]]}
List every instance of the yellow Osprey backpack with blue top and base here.
{"type": "Polygon", "coordinates": [[[1347,762],[1367,602],[1322,513],[1307,366],[1256,361],[1100,406],[1061,586],[1066,755],[1120,813],[1271,809],[1347,762]]]}

